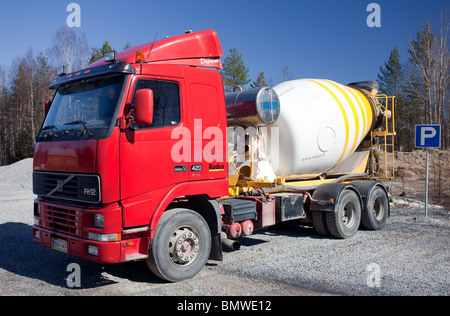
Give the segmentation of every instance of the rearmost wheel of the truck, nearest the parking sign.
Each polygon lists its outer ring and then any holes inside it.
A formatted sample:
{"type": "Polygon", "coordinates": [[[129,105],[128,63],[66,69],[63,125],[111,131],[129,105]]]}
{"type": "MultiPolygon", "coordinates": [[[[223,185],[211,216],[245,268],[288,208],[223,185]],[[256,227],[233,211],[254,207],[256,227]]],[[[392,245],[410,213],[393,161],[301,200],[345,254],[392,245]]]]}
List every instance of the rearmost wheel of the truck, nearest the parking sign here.
{"type": "Polygon", "coordinates": [[[386,225],[389,215],[389,199],[382,187],[376,186],[367,197],[366,208],[361,214],[361,225],[365,229],[380,230],[386,225]]]}

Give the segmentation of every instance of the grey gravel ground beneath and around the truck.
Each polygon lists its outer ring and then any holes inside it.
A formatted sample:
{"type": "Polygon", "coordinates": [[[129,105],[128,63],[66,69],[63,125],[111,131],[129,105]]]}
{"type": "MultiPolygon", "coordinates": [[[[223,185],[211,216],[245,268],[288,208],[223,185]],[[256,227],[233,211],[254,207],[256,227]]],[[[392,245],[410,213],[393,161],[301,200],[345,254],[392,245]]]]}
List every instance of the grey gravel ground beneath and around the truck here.
{"type": "Polygon", "coordinates": [[[145,262],[101,265],[32,240],[32,160],[0,167],[0,295],[441,295],[450,294],[448,210],[396,199],[388,225],[348,240],[297,224],[241,238],[239,251],[208,262],[193,280],[170,284],[145,262]],[[79,264],[81,287],[67,266],[79,264]]]}

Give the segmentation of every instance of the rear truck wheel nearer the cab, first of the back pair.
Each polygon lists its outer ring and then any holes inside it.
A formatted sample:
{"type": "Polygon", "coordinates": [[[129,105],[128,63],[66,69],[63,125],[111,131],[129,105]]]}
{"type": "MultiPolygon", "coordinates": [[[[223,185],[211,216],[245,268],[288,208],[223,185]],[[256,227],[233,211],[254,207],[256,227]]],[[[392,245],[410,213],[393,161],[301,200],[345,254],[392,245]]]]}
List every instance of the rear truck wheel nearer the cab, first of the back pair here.
{"type": "Polygon", "coordinates": [[[339,197],[335,212],[327,212],[327,227],[336,238],[350,238],[358,231],[361,222],[361,202],[352,190],[344,190],[339,197]]]}

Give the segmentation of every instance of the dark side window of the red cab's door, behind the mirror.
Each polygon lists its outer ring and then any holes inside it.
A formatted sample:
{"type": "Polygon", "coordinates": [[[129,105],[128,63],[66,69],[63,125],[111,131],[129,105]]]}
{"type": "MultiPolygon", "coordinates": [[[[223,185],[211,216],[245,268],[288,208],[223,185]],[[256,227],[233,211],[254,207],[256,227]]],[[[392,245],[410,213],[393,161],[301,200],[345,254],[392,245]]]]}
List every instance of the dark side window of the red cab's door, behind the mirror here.
{"type": "MultiPolygon", "coordinates": [[[[153,123],[148,126],[132,124],[134,129],[176,126],[181,121],[180,88],[177,83],[159,80],[139,80],[135,92],[153,90],[153,123]]],[[[131,103],[134,108],[134,97],[131,103]]]]}

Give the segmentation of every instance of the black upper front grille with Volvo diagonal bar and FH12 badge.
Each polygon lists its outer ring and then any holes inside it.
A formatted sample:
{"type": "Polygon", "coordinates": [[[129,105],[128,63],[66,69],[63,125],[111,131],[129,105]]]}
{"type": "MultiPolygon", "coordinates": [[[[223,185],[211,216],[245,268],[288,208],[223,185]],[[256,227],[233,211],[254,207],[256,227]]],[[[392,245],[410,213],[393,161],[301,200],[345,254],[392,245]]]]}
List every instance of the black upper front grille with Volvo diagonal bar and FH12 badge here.
{"type": "Polygon", "coordinates": [[[35,171],[33,172],[33,193],[53,199],[100,203],[100,177],[35,171]]]}

